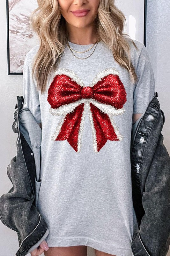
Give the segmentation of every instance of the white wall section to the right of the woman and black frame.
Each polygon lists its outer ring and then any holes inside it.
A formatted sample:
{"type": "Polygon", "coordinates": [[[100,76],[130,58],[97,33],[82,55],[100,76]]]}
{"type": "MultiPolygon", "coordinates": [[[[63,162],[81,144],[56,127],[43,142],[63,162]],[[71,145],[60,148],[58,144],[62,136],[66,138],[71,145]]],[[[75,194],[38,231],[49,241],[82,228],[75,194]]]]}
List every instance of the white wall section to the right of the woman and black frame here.
{"type": "Polygon", "coordinates": [[[147,42],[160,107],[165,114],[164,145],[170,153],[170,2],[147,1],[147,42]]]}

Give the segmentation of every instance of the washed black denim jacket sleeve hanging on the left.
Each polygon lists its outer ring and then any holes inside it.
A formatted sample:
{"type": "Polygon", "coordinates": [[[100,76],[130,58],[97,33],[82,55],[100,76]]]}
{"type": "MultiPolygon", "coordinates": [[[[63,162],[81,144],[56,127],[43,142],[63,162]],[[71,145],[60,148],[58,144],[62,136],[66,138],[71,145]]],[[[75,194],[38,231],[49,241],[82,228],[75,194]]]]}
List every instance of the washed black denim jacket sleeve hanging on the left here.
{"type": "MultiPolygon", "coordinates": [[[[12,124],[17,137],[17,155],[11,159],[7,167],[7,175],[13,187],[0,197],[0,220],[8,228],[15,230],[18,235],[19,248],[15,255],[25,256],[28,252],[38,247],[41,240],[45,239],[49,230],[47,223],[37,211],[35,206],[35,193],[30,175],[23,157],[22,145],[28,154],[28,162],[31,163],[30,170],[35,170],[33,152],[28,146],[24,136],[18,129],[18,114],[12,124]]],[[[32,174],[31,174],[32,175],[32,174]]],[[[35,174],[33,173],[33,176],[35,174]]]]}

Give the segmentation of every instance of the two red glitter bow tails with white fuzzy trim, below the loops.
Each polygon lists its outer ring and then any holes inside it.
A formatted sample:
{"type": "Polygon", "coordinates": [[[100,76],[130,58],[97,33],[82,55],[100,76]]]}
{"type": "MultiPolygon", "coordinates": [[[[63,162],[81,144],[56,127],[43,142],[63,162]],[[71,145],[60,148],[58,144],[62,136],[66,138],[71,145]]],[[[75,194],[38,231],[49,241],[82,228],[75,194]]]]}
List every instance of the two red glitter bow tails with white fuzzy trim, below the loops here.
{"type": "MultiPolygon", "coordinates": [[[[52,135],[52,140],[67,140],[70,146],[79,152],[84,123],[84,107],[85,103],[82,103],[65,115],[52,135]]],[[[102,112],[92,103],[86,107],[91,121],[95,152],[99,152],[107,140],[122,140],[122,135],[119,133],[112,116],[102,112]]]]}

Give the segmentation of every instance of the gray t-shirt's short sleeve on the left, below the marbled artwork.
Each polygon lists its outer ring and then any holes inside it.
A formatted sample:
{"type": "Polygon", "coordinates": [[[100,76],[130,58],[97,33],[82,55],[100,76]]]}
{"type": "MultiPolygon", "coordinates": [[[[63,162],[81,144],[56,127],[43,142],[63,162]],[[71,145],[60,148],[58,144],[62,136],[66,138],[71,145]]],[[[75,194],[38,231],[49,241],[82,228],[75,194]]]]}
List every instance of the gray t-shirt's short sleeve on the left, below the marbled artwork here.
{"type": "Polygon", "coordinates": [[[41,123],[39,93],[35,81],[32,79],[32,58],[26,54],[23,66],[23,98],[37,123],[41,123]]]}

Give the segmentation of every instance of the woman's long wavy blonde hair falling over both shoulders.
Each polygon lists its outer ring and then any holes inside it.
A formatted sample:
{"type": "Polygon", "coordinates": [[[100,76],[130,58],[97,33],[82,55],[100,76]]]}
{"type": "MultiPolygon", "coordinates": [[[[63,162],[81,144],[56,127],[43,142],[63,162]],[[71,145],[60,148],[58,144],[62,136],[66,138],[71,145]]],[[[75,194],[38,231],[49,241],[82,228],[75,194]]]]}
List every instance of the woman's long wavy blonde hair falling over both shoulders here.
{"type": "MultiPolygon", "coordinates": [[[[66,21],[60,12],[56,0],[38,0],[38,8],[31,13],[30,21],[33,31],[38,35],[40,47],[33,60],[32,76],[37,89],[41,93],[46,91],[46,84],[50,72],[59,63],[65,44],[68,40],[66,21]]],[[[137,75],[130,59],[129,38],[123,33],[126,18],[116,6],[115,0],[100,0],[96,16],[97,36],[112,51],[115,61],[130,74],[131,82],[137,82],[137,75]]]]}

